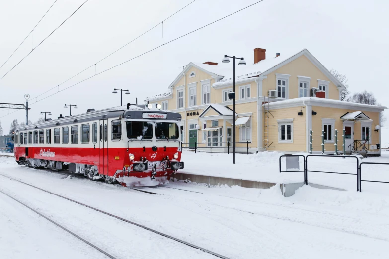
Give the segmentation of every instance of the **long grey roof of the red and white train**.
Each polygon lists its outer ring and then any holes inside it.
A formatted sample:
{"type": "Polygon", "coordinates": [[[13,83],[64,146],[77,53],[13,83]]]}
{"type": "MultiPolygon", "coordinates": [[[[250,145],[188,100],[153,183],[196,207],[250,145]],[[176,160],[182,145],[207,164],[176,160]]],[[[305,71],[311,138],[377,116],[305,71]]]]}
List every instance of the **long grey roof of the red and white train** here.
{"type": "Polygon", "coordinates": [[[181,114],[173,113],[168,111],[161,111],[156,108],[148,109],[144,104],[142,105],[130,105],[118,106],[113,108],[107,108],[95,111],[94,109],[88,109],[86,113],[59,117],[55,120],[49,120],[42,123],[34,123],[26,125],[16,129],[16,132],[24,130],[43,129],[55,126],[64,126],[81,122],[96,121],[108,118],[119,118],[122,116],[123,119],[143,119],[143,120],[166,120],[166,121],[181,121],[181,114]],[[147,115],[147,116],[146,116],[147,115]]]}

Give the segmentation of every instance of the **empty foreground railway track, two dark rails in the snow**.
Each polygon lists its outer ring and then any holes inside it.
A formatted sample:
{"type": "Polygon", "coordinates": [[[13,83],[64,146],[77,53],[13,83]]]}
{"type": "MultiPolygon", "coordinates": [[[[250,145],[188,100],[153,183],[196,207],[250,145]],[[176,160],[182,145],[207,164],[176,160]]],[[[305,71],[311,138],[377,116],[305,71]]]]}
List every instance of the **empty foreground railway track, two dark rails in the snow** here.
{"type": "MultiPolygon", "coordinates": [[[[129,223],[129,224],[135,225],[135,226],[137,226],[137,227],[143,228],[143,229],[145,229],[145,230],[148,230],[148,231],[150,231],[150,232],[156,233],[156,234],[161,235],[161,236],[163,236],[163,237],[172,239],[172,240],[174,240],[174,241],[177,241],[177,242],[182,243],[182,244],[184,244],[184,245],[187,245],[187,246],[189,246],[189,247],[192,247],[192,248],[201,250],[201,251],[203,251],[203,252],[209,253],[209,254],[214,255],[214,256],[216,256],[216,257],[218,257],[218,258],[231,259],[231,258],[229,258],[229,257],[223,256],[223,255],[220,255],[220,254],[218,254],[218,253],[212,252],[212,251],[210,251],[210,250],[208,250],[208,249],[205,249],[205,248],[196,246],[196,245],[191,244],[191,243],[189,243],[189,242],[186,242],[186,241],[184,241],[184,240],[181,240],[181,239],[175,238],[175,237],[173,237],[173,236],[167,235],[167,234],[165,234],[165,233],[159,232],[159,231],[157,231],[157,230],[155,230],[155,229],[146,227],[146,226],[144,226],[144,225],[142,225],[142,224],[138,224],[138,223],[136,223],[136,222],[133,222],[133,221],[127,220],[127,219],[125,219],[125,218],[122,218],[122,217],[116,216],[116,215],[114,215],[114,214],[111,214],[111,213],[109,213],[109,212],[106,212],[106,211],[104,211],[104,210],[101,210],[101,209],[98,209],[98,208],[89,206],[89,205],[84,204],[84,203],[82,203],[82,202],[79,202],[79,201],[77,201],[77,200],[74,200],[74,199],[71,199],[71,198],[68,198],[68,197],[59,195],[59,194],[52,193],[52,192],[47,191],[47,190],[45,190],[45,189],[42,189],[42,188],[40,188],[40,187],[37,187],[37,186],[31,185],[31,184],[25,183],[25,182],[23,182],[23,181],[20,181],[20,180],[18,180],[18,179],[15,179],[15,178],[12,178],[12,177],[3,175],[3,174],[0,174],[0,175],[3,176],[3,177],[6,177],[6,178],[8,178],[8,179],[11,179],[11,180],[13,180],[13,181],[16,181],[16,182],[22,183],[22,184],[24,184],[24,185],[30,186],[30,187],[32,187],[32,188],[38,189],[38,190],[40,190],[40,191],[46,192],[46,193],[48,193],[48,194],[52,194],[52,195],[55,195],[55,196],[57,196],[57,197],[66,199],[66,200],[68,200],[68,201],[77,203],[77,204],[79,204],[79,205],[82,205],[82,206],[84,206],[84,207],[93,209],[93,210],[95,210],[95,211],[98,211],[98,212],[103,213],[103,214],[105,214],[105,215],[108,215],[108,216],[111,216],[111,217],[113,217],[113,218],[119,219],[119,220],[124,221],[124,222],[126,222],[126,223],[129,223]]],[[[135,189],[135,188],[134,188],[134,190],[136,190],[136,191],[142,191],[142,190],[137,190],[137,189],[135,189]]],[[[49,219],[48,217],[44,216],[43,214],[41,214],[41,213],[39,213],[38,211],[34,210],[33,208],[29,207],[28,205],[26,205],[26,204],[22,203],[21,201],[17,200],[16,198],[10,196],[9,194],[6,194],[6,193],[2,192],[1,190],[0,190],[0,192],[3,193],[3,194],[5,194],[5,195],[7,195],[7,196],[10,197],[10,198],[12,198],[13,200],[19,202],[19,203],[22,204],[23,206],[25,206],[25,207],[31,209],[31,210],[34,211],[35,213],[39,214],[40,216],[44,217],[45,219],[49,220],[50,222],[52,222],[53,224],[57,225],[58,227],[64,229],[65,231],[69,232],[70,234],[74,235],[75,237],[77,237],[78,239],[80,239],[80,240],[82,240],[83,242],[87,243],[88,245],[92,246],[93,248],[97,249],[98,251],[104,253],[104,254],[105,254],[106,256],[108,256],[109,258],[116,259],[116,258],[113,257],[112,255],[106,253],[105,251],[102,251],[102,250],[101,250],[100,248],[98,248],[97,246],[95,246],[95,245],[89,243],[88,241],[82,239],[82,238],[79,237],[77,234],[71,232],[70,230],[68,230],[68,229],[66,229],[65,227],[61,226],[61,225],[58,224],[57,222],[55,222],[55,221],[49,219]]],[[[145,192],[146,192],[146,193],[150,193],[150,194],[157,194],[157,193],[148,192],[148,191],[145,191],[145,192]]]]}

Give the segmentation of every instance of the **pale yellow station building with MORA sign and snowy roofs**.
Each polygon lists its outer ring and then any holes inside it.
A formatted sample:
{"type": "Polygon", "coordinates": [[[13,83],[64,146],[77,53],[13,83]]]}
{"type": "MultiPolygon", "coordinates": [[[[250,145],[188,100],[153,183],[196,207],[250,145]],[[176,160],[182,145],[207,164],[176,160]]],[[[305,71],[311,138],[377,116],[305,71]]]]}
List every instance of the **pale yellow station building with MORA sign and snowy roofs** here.
{"type": "Polygon", "coordinates": [[[307,49],[266,58],[256,48],[253,60],[236,61],[235,116],[231,63],[190,62],[166,93],[146,101],[182,115],[186,147],[227,152],[235,127],[237,152],[247,152],[247,142],[250,152],[309,152],[312,130],[313,153],[322,152],[323,135],[325,153],[333,154],[337,130],[342,153],[345,129],[347,152],[380,155],[380,112],[387,107],[340,101],[344,86],[307,49]]]}

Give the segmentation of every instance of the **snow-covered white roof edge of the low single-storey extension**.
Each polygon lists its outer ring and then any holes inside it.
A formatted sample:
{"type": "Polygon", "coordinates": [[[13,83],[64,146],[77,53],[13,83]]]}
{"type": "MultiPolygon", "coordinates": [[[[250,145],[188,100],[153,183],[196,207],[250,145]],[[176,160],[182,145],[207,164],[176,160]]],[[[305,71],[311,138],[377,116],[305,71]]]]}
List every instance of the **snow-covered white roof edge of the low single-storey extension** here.
{"type": "Polygon", "coordinates": [[[278,106],[278,105],[282,105],[282,104],[301,104],[303,102],[314,102],[314,103],[333,104],[333,105],[345,105],[345,106],[354,106],[354,107],[360,107],[360,108],[373,108],[376,110],[388,109],[388,107],[386,107],[386,106],[353,103],[353,102],[339,101],[339,100],[326,99],[326,98],[317,98],[317,97],[293,98],[293,99],[289,99],[289,100],[270,102],[269,104],[266,104],[266,105],[269,105],[270,107],[272,107],[272,106],[278,106]]]}

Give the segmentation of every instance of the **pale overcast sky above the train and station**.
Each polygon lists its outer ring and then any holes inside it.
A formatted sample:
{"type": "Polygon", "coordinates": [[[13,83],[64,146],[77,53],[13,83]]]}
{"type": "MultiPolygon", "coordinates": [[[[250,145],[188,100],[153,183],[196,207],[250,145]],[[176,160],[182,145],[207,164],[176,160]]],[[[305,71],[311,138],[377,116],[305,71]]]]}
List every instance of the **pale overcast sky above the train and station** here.
{"type": "MultiPolygon", "coordinates": [[[[55,0],[16,0],[0,3],[0,66],[32,30],[55,0]]],[[[85,0],[57,0],[34,30],[34,46],[41,42],[85,0]]],[[[22,63],[0,80],[0,102],[30,103],[95,74],[91,67],[60,87],[41,95],[152,28],[192,0],[89,0],[22,63]]],[[[163,23],[168,42],[257,0],[197,0],[163,23]]],[[[372,91],[389,107],[385,86],[389,68],[389,17],[386,0],[264,0],[246,10],[169,43],[65,91],[30,106],[30,119],[40,111],[52,118],[68,115],[64,104],[77,104],[73,114],[88,108],[120,105],[113,88],[129,89],[123,103],[167,91],[168,85],[193,62],[220,62],[224,54],[243,56],[253,63],[253,49],[298,52],[307,48],[328,69],[346,74],[352,92],[372,91]]],[[[145,34],[96,65],[97,73],[162,43],[162,27],[145,34]]],[[[32,35],[0,69],[2,77],[33,46],[32,35]]],[[[237,71],[237,74],[239,72],[237,71]]],[[[0,110],[4,133],[13,119],[25,121],[24,111],[0,110]],[[7,115],[7,116],[5,116],[7,115]],[[4,117],[3,117],[4,116],[4,117]]],[[[389,112],[386,111],[387,117],[389,112]]],[[[388,123],[387,123],[388,125],[388,123]]]]}

